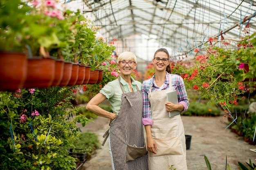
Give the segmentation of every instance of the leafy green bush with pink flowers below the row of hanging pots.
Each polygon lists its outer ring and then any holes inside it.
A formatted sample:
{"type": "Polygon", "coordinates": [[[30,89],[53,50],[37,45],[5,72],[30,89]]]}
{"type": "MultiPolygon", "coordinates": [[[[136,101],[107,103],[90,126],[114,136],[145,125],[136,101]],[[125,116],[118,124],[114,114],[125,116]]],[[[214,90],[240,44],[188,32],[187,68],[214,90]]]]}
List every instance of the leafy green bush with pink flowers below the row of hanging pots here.
{"type": "Polygon", "coordinates": [[[76,167],[67,149],[79,136],[76,122],[91,120],[78,115],[71,93],[61,87],[0,92],[0,169],[76,167]]]}

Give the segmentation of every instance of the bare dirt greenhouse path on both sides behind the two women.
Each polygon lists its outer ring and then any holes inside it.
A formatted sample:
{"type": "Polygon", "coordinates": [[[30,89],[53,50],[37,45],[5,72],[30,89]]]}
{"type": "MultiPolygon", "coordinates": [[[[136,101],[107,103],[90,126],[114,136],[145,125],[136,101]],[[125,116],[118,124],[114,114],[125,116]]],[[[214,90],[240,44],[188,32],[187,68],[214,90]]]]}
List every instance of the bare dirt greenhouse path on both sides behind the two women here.
{"type": "MultiPolygon", "coordinates": [[[[186,150],[188,170],[207,170],[204,161],[206,155],[211,163],[212,170],[225,170],[227,163],[232,170],[239,170],[238,161],[245,164],[249,159],[256,163],[256,153],[250,151],[256,146],[249,145],[229,129],[228,124],[220,121],[222,117],[187,117],[182,116],[185,134],[191,135],[191,146],[186,150]]],[[[99,136],[100,143],[103,134],[108,129],[108,119],[98,117],[94,123],[81,128],[82,131],[95,132],[99,136]]],[[[108,141],[105,146],[97,150],[89,161],[86,161],[81,170],[112,170],[108,141]]]]}

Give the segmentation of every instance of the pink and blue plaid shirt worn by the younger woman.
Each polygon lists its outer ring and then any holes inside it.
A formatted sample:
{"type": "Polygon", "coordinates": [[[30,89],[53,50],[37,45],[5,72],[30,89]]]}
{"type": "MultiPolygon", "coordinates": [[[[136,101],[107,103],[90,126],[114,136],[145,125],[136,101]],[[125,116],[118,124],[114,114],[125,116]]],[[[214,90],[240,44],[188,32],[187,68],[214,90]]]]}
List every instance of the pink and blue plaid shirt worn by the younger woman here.
{"type": "MultiPolygon", "coordinates": [[[[189,99],[186,94],[186,88],[184,86],[183,79],[176,74],[171,74],[171,81],[173,90],[177,90],[179,104],[184,106],[184,111],[186,111],[189,107],[189,99]]],[[[166,79],[164,81],[164,88],[162,90],[169,88],[169,79],[170,75],[166,72],[166,79]]],[[[142,95],[143,95],[143,118],[142,123],[143,125],[152,125],[153,119],[151,117],[151,109],[150,109],[150,102],[148,101],[148,94],[150,93],[150,86],[152,86],[152,92],[159,91],[160,88],[154,85],[155,82],[155,75],[152,78],[145,80],[142,83],[142,95]]]]}

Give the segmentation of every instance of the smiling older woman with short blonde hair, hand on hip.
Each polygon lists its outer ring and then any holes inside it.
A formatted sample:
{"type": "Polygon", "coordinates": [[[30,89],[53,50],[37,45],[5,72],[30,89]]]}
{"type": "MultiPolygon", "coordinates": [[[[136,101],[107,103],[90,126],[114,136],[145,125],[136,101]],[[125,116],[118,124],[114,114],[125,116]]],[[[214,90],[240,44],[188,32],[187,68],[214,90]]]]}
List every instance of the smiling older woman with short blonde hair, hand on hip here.
{"type": "Polygon", "coordinates": [[[136,56],[132,52],[121,53],[117,58],[121,75],[118,79],[108,82],[86,106],[86,109],[93,113],[110,119],[110,129],[107,133],[113,170],[148,169],[147,155],[132,161],[126,160],[127,145],[145,147],[141,83],[131,77],[136,66],[136,56]],[[109,100],[113,113],[98,106],[105,99],[109,100]]]}

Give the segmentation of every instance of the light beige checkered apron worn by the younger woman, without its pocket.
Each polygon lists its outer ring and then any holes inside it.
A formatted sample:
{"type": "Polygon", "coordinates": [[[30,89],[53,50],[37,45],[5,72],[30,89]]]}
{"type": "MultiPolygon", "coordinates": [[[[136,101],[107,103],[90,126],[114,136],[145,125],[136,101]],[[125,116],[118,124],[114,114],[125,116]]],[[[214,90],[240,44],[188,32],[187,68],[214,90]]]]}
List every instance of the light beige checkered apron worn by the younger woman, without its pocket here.
{"type": "Polygon", "coordinates": [[[168,166],[174,165],[176,170],[187,170],[186,166],[186,139],[184,134],[184,126],[180,115],[169,118],[165,108],[166,92],[172,91],[171,76],[169,89],[151,92],[148,99],[151,106],[151,115],[153,125],[151,132],[153,138],[180,137],[182,147],[182,155],[163,155],[156,157],[148,157],[149,170],[168,170],[168,166]]]}

